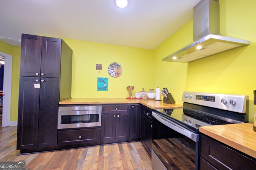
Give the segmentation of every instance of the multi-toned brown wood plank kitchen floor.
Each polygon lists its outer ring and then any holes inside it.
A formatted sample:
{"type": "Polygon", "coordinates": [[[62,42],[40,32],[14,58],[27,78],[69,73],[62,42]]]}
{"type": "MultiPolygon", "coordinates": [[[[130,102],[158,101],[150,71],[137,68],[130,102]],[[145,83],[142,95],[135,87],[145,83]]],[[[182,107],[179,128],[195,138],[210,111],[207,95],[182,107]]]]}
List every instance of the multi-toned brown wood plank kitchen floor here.
{"type": "Polygon", "coordinates": [[[80,149],[18,155],[17,127],[0,127],[0,161],[25,161],[35,170],[152,170],[142,143],[122,143],[80,149]]]}

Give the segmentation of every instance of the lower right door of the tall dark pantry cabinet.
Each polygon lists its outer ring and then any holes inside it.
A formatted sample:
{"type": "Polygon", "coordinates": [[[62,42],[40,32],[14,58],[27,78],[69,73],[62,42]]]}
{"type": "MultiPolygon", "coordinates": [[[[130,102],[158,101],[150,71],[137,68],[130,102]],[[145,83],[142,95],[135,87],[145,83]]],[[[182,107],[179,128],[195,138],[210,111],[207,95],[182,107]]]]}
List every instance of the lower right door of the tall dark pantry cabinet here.
{"type": "Polygon", "coordinates": [[[57,146],[59,78],[41,78],[38,147],[57,146]]]}

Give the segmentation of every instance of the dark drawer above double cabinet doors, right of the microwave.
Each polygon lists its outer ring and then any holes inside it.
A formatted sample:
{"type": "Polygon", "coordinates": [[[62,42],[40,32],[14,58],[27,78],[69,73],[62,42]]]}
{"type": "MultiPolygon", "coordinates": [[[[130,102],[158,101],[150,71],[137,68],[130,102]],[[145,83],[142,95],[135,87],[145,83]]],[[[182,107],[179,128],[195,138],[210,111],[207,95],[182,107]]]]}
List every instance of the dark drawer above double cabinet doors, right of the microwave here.
{"type": "Polygon", "coordinates": [[[102,105],[102,113],[130,113],[130,104],[102,105]]]}

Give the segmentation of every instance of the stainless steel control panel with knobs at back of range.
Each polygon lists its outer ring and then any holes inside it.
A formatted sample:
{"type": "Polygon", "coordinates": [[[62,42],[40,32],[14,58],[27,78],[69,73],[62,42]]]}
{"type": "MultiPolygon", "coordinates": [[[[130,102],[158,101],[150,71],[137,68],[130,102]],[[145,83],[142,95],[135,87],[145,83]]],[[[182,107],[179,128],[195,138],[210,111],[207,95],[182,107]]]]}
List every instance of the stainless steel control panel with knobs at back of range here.
{"type": "Polygon", "coordinates": [[[183,92],[182,101],[238,113],[246,113],[248,98],[248,96],[244,95],[183,92]]]}

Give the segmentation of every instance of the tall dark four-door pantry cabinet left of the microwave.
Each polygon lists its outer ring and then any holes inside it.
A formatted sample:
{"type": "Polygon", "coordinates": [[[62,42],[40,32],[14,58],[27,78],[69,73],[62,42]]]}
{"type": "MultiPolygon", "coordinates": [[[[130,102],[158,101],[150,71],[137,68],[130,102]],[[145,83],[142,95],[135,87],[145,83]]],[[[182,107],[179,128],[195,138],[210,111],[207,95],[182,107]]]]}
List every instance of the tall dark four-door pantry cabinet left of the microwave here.
{"type": "Polygon", "coordinates": [[[62,39],[22,34],[17,149],[57,146],[58,103],[71,98],[71,78],[62,39]]]}

